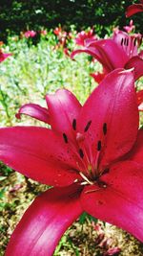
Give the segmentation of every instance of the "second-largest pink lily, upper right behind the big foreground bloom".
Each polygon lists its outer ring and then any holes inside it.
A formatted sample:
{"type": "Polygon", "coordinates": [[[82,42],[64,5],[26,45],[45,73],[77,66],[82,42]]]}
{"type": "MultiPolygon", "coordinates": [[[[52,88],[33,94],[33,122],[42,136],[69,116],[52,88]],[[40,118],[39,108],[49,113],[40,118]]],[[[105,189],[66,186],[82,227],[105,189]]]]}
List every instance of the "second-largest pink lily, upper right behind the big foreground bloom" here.
{"type": "Polygon", "coordinates": [[[142,54],[137,53],[141,41],[141,35],[115,31],[112,38],[88,40],[86,47],[72,52],[71,58],[79,53],[91,55],[103,65],[102,76],[106,76],[115,68],[134,68],[134,78],[138,80],[143,75],[142,54]]]}

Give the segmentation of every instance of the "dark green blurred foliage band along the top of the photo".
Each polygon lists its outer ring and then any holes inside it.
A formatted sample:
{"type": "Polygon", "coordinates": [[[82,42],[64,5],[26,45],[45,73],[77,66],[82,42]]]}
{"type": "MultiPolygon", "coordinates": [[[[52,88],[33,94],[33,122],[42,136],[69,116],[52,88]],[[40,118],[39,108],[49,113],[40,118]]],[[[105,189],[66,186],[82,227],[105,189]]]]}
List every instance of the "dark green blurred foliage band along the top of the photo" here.
{"type": "MultiPolygon", "coordinates": [[[[41,27],[54,28],[61,24],[70,30],[75,25],[77,30],[94,26],[98,35],[106,35],[111,26],[122,28],[129,23],[125,11],[132,0],[1,0],[0,32],[1,39],[8,34],[19,34],[26,30],[40,30],[41,27]]],[[[133,15],[139,32],[143,13],[133,15]]]]}

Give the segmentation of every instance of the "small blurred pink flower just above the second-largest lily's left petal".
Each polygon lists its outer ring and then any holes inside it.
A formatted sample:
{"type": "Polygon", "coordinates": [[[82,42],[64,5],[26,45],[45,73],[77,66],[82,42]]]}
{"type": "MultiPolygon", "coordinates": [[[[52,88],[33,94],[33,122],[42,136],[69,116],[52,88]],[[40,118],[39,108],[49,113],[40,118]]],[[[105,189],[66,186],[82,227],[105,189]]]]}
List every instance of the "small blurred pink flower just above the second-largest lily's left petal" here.
{"type": "Polygon", "coordinates": [[[96,35],[93,35],[93,29],[91,29],[89,32],[82,31],[77,34],[75,37],[75,43],[77,45],[85,46],[85,40],[87,39],[96,39],[96,35]]]}

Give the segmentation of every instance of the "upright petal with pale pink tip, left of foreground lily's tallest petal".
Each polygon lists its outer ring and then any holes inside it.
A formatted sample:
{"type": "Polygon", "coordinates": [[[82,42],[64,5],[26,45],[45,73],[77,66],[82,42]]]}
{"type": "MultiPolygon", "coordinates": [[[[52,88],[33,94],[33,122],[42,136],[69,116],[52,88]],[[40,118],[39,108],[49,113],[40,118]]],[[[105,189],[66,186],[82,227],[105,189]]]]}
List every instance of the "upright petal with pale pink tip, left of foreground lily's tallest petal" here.
{"type": "Polygon", "coordinates": [[[48,94],[46,101],[51,116],[51,128],[72,137],[72,122],[81,109],[75,96],[66,89],[59,89],[55,94],[48,94]]]}

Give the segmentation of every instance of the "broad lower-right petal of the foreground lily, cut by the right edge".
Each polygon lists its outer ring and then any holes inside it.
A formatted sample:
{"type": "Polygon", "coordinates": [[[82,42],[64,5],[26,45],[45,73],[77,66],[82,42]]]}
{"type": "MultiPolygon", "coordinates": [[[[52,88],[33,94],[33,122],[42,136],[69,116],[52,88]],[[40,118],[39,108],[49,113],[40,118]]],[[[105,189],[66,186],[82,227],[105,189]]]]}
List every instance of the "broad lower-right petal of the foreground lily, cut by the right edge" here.
{"type": "Polygon", "coordinates": [[[103,175],[102,181],[107,188],[91,186],[83,191],[83,209],[143,242],[143,165],[121,162],[114,165],[108,175],[103,175]]]}

